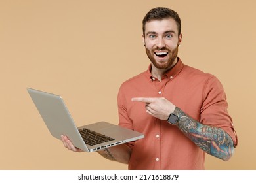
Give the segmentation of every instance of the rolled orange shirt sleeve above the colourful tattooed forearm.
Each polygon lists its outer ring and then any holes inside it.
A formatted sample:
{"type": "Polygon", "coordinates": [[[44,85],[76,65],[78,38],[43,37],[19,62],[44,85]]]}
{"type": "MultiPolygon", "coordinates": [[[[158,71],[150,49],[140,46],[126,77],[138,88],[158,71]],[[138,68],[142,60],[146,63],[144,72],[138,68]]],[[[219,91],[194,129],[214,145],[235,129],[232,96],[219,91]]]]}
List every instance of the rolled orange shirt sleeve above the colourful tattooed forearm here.
{"type": "Polygon", "coordinates": [[[238,144],[238,137],[234,130],[232,118],[228,114],[228,103],[223,85],[212,75],[205,84],[200,122],[205,125],[220,127],[230,135],[234,146],[238,144]]]}

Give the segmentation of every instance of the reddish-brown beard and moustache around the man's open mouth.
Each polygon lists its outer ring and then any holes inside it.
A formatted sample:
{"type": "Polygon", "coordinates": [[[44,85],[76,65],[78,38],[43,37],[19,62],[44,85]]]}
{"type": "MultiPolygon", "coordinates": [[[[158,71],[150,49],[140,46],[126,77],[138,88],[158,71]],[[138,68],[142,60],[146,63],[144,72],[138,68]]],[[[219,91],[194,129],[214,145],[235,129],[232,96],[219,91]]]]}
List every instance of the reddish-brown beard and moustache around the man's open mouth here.
{"type": "Polygon", "coordinates": [[[148,55],[148,58],[150,59],[151,63],[156,68],[158,68],[158,69],[170,69],[171,66],[173,65],[173,63],[175,62],[175,59],[178,56],[178,50],[179,50],[178,46],[173,51],[169,50],[166,47],[161,48],[161,49],[154,49],[152,51],[150,51],[148,48],[146,48],[146,54],[148,55]],[[164,50],[164,51],[168,52],[169,59],[167,59],[167,61],[161,61],[160,62],[160,61],[156,61],[156,59],[154,58],[154,56],[155,56],[154,52],[155,51],[161,51],[161,50],[164,50]]]}

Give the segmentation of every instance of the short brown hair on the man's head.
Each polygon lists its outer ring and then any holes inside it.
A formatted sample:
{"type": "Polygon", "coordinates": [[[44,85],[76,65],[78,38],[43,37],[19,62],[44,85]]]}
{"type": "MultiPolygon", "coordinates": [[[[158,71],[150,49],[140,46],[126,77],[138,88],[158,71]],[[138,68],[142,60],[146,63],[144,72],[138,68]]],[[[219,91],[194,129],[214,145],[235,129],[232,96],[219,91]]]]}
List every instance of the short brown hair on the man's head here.
{"type": "Polygon", "coordinates": [[[175,20],[178,27],[178,35],[180,35],[181,34],[181,18],[179,17],[179,14],[177,14],[177,12],[175,12],[174,10],[171,10],[169,8],[164,8],[164,7],[153,8],[146,14],[146,16],[143,18],[143,21],[142,21],[143,35],[145,35],[146,22],[150,22],[151,20],[162,20],[164,18],[173,18],[175,20]]]}

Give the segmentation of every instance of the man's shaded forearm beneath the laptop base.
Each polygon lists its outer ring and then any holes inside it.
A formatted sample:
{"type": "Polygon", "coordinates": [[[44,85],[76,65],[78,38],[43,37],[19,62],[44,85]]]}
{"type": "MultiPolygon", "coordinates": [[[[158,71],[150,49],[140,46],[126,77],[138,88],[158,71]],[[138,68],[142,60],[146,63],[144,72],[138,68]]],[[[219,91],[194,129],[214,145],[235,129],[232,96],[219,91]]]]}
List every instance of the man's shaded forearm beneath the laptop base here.
{"type": "Polygon", "coordinates": [[[121,144],[100,150],[98,154],[111,161],[128,164],[131,156],[131,148],[126,144],[121,144]]]}

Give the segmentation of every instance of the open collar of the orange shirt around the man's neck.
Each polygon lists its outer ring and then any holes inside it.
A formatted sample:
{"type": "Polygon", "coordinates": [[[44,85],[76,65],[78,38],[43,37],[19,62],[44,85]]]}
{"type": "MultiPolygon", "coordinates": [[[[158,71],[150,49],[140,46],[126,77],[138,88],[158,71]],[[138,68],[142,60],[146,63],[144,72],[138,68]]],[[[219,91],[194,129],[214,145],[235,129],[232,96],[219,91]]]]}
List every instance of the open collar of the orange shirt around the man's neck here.
{"type": "MultiPolygon", "coordinates": [[[[167,78],[169,78],[170,80],[173,80],[177,75],[179,75],[183,67],[184,67],[184,64],[182,63],[181,59],[178,57],[178,61],[175,64],[175,66],[173,66],[169,71],[167,71],[167,73],[165,73],[165,76],[167,76],[167,78]]],[[[152,66],[150,64],[148,67],[147,74],[150,80],[154,80],[154,77],[151,74],[151,69],[152,69],[152,66]]]]}

